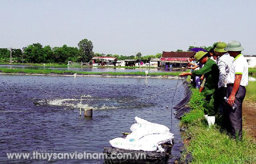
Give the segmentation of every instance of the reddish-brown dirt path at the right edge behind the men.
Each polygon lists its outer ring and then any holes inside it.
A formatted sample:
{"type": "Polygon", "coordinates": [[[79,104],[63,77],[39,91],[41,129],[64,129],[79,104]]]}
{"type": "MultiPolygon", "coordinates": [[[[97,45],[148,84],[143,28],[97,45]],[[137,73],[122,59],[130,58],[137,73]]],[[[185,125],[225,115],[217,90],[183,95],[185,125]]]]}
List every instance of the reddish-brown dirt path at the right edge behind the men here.
{"type": "Polygon", "coordinates": [[[256,143],[256,103],[244,101],[242,115],[245,120],[243,128],[246,130],[247,134],[252,136],[254,143],[256,143]]]}

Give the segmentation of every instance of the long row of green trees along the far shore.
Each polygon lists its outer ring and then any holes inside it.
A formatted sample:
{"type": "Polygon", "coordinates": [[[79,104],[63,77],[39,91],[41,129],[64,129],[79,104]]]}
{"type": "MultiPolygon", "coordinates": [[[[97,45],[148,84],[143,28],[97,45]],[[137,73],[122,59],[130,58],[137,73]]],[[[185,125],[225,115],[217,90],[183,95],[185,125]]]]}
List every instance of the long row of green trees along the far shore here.
{"type": "MultiPolygon", "coordinates": [[[[16,63],[67,63],[72,62],[90,62],[94,56],[116,57],[118,60],[160,58],[162,53],[156,55],[142,56],[140,52],[135,55],[117,55],[94,53],[92,41],[83,39],[79,41],[78,47],[51,47],[42,46],[40,43],[33,43],[22,49],[12,49],[12,61],[16,63]]],[[[0,48],[0,63],[10,62],[10,49],[0,48]]]]}

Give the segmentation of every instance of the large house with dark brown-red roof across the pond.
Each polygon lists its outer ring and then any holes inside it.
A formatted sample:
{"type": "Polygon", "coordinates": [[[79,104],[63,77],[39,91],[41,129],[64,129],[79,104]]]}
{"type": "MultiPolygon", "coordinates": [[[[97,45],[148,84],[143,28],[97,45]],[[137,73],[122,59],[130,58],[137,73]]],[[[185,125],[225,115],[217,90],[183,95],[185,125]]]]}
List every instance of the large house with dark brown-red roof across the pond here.
{"type": "Polygon", "coordinates": [[[194,55],[191,51],[163,51],[160,58],[160,67],[186,67],[188,58],[194,55]]]}

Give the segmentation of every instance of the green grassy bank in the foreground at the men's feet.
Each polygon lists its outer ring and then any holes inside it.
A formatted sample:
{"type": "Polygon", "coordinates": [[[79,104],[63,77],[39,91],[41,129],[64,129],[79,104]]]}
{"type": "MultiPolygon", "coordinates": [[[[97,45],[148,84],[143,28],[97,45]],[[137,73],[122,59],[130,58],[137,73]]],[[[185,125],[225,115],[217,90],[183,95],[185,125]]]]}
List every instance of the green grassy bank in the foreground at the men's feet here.
{"type": "Polygon", "coordinates": [[[204,164],[255,164],[256,144],[249,136],[242,141],[230,139],[230,136],[221,128],[222,118],[216,117],[216,126],[208,128],[203,117],[202,98],[198,90],[192,89],[189,106],[192,109],[181,120],[181,126],[186,126],[184,135],[185,151],[182,154],[184,161],[186,154],[192,156],[192,163],[204,164]]]}

